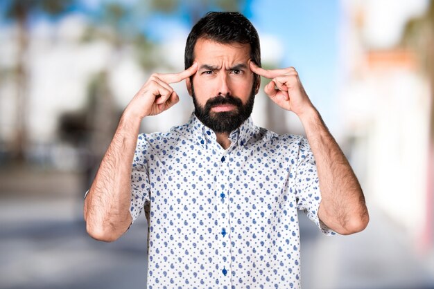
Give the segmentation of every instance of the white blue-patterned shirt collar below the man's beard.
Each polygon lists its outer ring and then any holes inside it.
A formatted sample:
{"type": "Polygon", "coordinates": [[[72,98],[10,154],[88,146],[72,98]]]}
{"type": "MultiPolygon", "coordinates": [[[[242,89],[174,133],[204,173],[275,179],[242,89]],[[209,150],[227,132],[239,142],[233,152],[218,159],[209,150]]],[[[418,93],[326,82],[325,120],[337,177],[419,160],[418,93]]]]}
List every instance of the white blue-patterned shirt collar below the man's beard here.
{"type": "MultiPolygon", "coordinates": [[[[189,134],[189,138],[197,145],[202,145],[207,147],[213,142],[216,142],[216,133],[209,127],[205,126],[193,112],[191,113],[189,122],[186,123],[184,127],[186,133],[189,134]]],[[[237,145],[243,147],[248,144],[250,138],[255,136],[259,132],[259,128],[253,124],[252,117],[250,116],[245,120],[238,129],[235,129],[229,134],[229,140],[232,143],[237,143],[237,145]]]]}

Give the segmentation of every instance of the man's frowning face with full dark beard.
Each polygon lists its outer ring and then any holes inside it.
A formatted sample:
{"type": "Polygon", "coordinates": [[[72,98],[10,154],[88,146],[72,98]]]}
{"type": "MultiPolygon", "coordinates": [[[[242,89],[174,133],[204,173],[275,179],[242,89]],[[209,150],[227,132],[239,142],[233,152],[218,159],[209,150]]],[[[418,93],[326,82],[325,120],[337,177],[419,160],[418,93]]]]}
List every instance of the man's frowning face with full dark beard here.
{"type": "Polygon", "coordinates": [[[250,116],[259,88],[249,68],[250,46],[198,39],[194,55],[198,72],[187,87],[196,116],[216,133],[229,133],[250,116]]]}

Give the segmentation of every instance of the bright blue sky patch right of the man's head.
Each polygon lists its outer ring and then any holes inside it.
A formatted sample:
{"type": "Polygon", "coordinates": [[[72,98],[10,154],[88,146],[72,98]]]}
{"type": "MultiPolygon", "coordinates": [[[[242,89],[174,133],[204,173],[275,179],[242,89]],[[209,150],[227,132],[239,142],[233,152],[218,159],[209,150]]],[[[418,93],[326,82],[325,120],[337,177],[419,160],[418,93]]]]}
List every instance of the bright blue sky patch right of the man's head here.
{"type": "Polygon", "coordinates": [[[337,91],[339,12],[336,0],[252,3],[251,20],[259,33],[281,40],[281,66],[295,67],[313,104],[324,116],[333,113],[337,91]]]}

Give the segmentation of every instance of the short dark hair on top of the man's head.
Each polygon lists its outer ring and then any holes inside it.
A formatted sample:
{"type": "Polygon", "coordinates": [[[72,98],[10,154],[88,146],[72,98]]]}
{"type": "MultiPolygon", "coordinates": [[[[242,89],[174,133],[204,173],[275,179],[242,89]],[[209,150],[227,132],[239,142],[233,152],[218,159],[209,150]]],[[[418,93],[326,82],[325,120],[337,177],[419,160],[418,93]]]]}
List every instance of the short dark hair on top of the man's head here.
{"type": "MultiPolygon", "coordinates": [[[[184,65],[189,68],[194,60],[194,46],[198,39],[209,39],[220,44],[250,44],[250,58],[261,66],[259,35],[249,19],[238,12],[208,12],[193,28],[185,44],[184,65]]],[[[255,82],[259,76],[255,77],[255,82]]]]}

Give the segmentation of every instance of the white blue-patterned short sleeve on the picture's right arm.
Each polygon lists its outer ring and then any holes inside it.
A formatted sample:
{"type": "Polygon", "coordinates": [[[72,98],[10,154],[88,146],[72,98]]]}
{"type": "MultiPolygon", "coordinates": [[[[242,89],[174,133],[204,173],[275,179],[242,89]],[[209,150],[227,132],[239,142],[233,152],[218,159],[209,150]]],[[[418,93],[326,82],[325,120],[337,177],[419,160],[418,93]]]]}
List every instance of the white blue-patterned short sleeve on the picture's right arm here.
{"type": "Polygon", "coordinates": [[[336,232],[329,229],[318,217],[318,209],[321,203],[320,181],[311,147],[304,137],[300,138],[299,144],[295,178],[297,209],[302,210],[320,228],[323,234],[327,236],[334,235],[336,232]]]}

